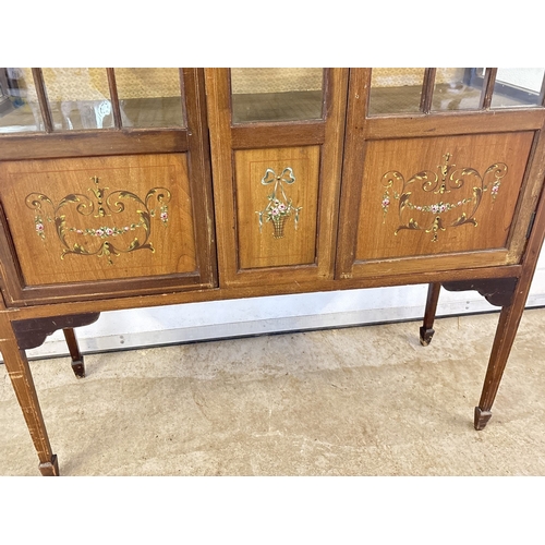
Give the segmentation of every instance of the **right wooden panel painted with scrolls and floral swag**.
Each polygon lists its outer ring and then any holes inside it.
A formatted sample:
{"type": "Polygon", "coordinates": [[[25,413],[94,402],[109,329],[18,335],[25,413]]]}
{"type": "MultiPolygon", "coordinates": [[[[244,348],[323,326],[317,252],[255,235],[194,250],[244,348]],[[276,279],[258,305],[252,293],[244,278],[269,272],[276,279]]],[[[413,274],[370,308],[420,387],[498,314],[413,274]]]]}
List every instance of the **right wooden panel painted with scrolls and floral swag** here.
{"type": "Polygon", "coordinates": [[[368,142],[356,261],[506,247],[533,132],[368,142]]]}

